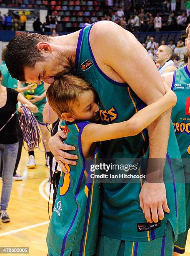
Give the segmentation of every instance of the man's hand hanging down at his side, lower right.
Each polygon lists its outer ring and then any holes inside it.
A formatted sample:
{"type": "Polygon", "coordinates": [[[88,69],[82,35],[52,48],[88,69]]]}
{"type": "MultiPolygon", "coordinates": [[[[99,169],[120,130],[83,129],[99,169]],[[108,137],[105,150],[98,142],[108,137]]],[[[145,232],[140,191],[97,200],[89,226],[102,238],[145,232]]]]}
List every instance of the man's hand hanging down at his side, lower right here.
{"type": "Polygon", "coordinates": [[[139,194],[140,207],[148,222],[163,220],[164,211],[169,213],[164,183],[145,182],[139,194]]]}

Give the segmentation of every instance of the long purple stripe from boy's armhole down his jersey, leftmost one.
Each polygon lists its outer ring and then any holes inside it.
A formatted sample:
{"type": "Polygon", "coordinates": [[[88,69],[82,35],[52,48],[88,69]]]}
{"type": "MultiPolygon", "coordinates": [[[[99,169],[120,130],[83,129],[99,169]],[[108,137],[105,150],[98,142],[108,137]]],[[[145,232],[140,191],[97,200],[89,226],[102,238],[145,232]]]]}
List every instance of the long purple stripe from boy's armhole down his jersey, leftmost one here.
{"type": "MultiPolygon", "coordinates": [[[[79,152],[80,152],[80,155],[81,155],[83,161],[82,161],[82,171],[81,171],[81,173],[80,173],[79,181],[78,181],[77,188],[76,188],[76,192],[75,192],[75,196],[74,196],[75,201],[76,201],[77,196],[78,196],[78,194],[79,194],[80,186],[81,186],[81,183],[82,183],[82,178],[83,178],[84,172],[85,172],[85,159],[84,159],[84,156],[83,156],[83,154],[82,154],[82,147],[81,147],[81,133],[82,133],[83,128],[84,128],[85,125],[87,125],[87,124],[88,124],[88,122],[81,122],[81,123],[77,124],[77,127],[79,128],[78,146],[79,146],[79,152]]],[[[76,202],[76,203],[77,203],[77,202],[76,202]]],[[[70,232],[70,230],[71,230],[71,228],[72,228],[72,225],[73,225],[74,222],[75,222],[75,219],[76,219],[76,217],[77,217],[77,213],[78,213],[78,205],[77,205],[77,210],[76,210],[76,212],[75,212],[75,215],[74,215],[74,217],[73,217],[73,219],[72,219],[72,222],[71,222],[71,224],[70,224],[70,227],[69,227],[69,229],[67,230],[67,233],[65,234],[65,236],[64,236],[64,238],[63,238],[63,243],[62,243],[62,248],[61,248],[61,256],[63,255],[63,253],[64,253],[64,251],[65,251],[65,244],[66,244],[67,236],[68,236],[68,234],[69,234],[69,232],[70,232]]]]}

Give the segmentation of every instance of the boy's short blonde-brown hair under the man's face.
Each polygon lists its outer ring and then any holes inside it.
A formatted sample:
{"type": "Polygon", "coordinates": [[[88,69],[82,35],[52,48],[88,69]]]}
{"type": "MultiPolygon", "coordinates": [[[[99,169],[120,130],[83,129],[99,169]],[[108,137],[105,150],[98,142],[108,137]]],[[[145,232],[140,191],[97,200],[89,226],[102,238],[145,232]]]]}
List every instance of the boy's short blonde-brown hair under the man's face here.
{"type": "Polygon", "coordinates": [[[73,114],[73,104],[79,104],[78,98],[84,91],[94,88],[86,80],[73,75],[64,75],[54,80],[47,89],[47,99],[50,107],[61,118],[64,112],[73,114]]]}

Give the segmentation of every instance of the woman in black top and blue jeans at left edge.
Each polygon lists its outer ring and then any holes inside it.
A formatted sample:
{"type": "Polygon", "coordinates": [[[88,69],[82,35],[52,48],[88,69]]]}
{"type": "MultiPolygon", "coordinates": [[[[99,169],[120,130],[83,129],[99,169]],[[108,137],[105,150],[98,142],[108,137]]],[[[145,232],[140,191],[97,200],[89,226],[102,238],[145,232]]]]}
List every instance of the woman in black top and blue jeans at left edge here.
{"type": "MultiPolygon", "coordinates": [[[[0,72],[0,80],[2,74],[0,72]]],[[[25,104],[32,112],[37,112],[37,107],[25,97],[0,83],[0,130],[7,123],[11,115],[16,111],[17,102],[25,104]]],[[[18,111],[22,112],[20,107],[18,111]]],[[[10,218],[6,212],[13,183],[13,172],[18,152],[18,134],[16,129],[16,115],[14,115],[5,127],[0,131],[0,159],[2,157],[2,193],[0,201],[0,218],[2,222],[9,222],[10,218]]]]}

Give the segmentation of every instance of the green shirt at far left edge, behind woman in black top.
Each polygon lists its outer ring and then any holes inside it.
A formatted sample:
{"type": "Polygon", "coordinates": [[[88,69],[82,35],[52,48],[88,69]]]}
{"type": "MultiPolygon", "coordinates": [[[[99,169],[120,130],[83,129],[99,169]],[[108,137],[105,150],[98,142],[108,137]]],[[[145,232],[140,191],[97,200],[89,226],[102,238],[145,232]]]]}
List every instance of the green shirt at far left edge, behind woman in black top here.
{"type": "Polygon", "coordinates": [[[2,61],[2,65],[0,66],[0,70],[2,73],[2,81],[1,84],[5,87],[17,89],[17,79],[12,78],[7,66],[5,64],[5,61],[2,61]]]}

